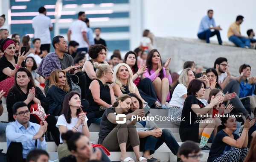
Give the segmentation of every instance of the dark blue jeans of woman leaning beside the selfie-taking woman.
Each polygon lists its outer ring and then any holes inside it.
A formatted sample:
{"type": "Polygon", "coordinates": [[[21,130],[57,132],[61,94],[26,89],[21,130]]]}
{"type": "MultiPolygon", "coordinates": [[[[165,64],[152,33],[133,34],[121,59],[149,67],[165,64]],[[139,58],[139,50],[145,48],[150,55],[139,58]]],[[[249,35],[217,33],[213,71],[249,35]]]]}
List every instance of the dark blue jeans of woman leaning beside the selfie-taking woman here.
{"type": "MultiPolygon", "coordinates": [[[[155,128],[151,128],[153,130],[155,128]]],[[[175,140],[172,135],[171,130],[163,129],[163,133],[160,137],[156,138],[155,136],[147,136],[145,138],[140,138],[140,151],[150,150],[150,154],[153,154],[155,150],[157,150],[163,142],[166,143],[168,148],[172,151],[174,155],[177,154],[180,145],[175,140]]]]}

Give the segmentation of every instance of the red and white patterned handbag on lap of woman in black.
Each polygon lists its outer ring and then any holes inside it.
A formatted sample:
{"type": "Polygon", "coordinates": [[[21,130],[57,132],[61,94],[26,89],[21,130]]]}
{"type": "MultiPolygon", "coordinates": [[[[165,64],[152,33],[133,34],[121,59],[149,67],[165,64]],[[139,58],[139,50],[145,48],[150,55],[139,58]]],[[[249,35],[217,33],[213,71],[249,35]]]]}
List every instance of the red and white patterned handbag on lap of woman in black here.
{"type": "Polygon", "coordinates": [[[32,104],[30,106],[30,115],[35,116],[38,124],[43,122],[47,116],[49,116],[49,114],[46,115],[44,107],[42,107],[40,104],[32,104]]]}

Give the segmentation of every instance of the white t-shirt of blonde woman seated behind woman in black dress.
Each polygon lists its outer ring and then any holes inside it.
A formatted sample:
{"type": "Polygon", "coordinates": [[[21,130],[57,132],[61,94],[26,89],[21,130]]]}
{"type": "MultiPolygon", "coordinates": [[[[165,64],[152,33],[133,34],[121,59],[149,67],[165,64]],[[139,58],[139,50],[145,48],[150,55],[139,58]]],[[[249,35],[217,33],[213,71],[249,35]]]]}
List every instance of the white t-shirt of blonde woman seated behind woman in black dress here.
{"type": "Polygon", "coordinates": [[[172,99],[169,102],[170,106],[177,106],[177,107],[183,107],[183,104],[185,102],[185,99],[183,95],[188,93],[188,89],[184,84],[178,84],[177,87],[175,87],[173,94],[172,94],[172,99]]]}

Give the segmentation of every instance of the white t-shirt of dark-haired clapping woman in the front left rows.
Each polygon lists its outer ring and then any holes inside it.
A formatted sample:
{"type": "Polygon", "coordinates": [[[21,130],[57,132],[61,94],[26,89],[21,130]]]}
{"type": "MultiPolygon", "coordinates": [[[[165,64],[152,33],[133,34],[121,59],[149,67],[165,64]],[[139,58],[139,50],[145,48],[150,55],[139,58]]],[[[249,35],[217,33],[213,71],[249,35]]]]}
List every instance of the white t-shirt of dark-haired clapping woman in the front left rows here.
{"type": "MultiPolygon", "coordinates": [[[[56,127],[58,127],[59,125],[62,125],[62,126],[67,127],[67,130],[72,130],[73,127],[76,125],[77,121],[78,121],[78,117],[71,118],[71,122],[69,124],[69,123],[67,123],[67,121],[65,119],[65,116],[62,114],[61,116],[58,117],[58,121],[57,121],[56,127]]],[[[88,121],[87,116],[85,117],[84,121],[85,122],[88,121]]],[[[82,125],[79,125],[78,131],[81,132],[81,133],[83,132],[82,125]]],[[[60,142],[63,143],[63,140],[61,139],[61,135],[60,135],[60,142]]]]}

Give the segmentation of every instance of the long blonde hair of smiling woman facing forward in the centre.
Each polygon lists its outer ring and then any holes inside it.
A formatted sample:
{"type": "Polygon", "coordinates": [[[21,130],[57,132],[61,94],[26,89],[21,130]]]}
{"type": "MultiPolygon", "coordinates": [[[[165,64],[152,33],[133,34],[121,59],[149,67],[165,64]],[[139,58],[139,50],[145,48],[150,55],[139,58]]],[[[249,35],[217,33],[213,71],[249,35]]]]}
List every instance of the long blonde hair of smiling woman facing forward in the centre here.
{"type": "Polygon", "coordinates": [[[114,71],[114,77],[116,78],[116,81],[113,84],[115,84],[115,83],[118,84],[120,89],[122,91],[125,91],[124,87],[122,87],[122,85],[123,85],[122,82],[120,81],[119,77],[117,76],[117,73],[119,72],[119,68],[122,66],[126,67],[129,72],[129,78],[127,81],[128,90],[130,91],[130,93],[135,93],[135,84],[132,81],[133,74],[132,74],[131,68],[125,63],[117,64],[116,69],[114,71]]]}

